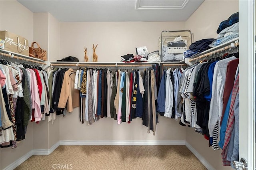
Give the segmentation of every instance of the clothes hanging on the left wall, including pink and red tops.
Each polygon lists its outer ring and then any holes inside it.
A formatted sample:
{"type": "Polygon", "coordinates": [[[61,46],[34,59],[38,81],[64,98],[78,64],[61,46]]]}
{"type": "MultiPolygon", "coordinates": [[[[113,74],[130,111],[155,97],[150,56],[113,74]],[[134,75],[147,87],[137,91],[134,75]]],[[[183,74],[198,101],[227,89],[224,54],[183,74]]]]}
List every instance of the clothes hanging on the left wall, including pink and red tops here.
{"type": "Polygon", "coordinates": [[[43,120],[48,103],[45,78],[48,79],[47,73],[39,67],[0,64],[1,148],[16,148],[16,141],[25,139],[28,122],[43,120]]]}

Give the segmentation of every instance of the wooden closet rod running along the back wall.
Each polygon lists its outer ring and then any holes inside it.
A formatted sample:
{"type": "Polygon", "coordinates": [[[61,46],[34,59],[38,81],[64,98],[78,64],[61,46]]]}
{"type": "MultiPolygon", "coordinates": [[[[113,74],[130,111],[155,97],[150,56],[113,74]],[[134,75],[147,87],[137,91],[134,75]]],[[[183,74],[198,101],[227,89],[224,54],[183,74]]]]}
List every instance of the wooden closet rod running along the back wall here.
{"type": "MultiPolygon", "coordinates": [[[[115,64],[97,64],[97,65],[94,65],[94,64],[50,64],[51,66],[78,66],[78,67],[85,67],[85,66],[88,66],[88,67],[95,67],[95,66],[103,66],[103,67],[116,67],[115,64]]],[[[186,66],[186,64],[163,64],[164,66],[186,66]]],[[[117,65],[118,67],[126,67],[126,66],[129,66],[129,67],[146,67],[146,66],[152,66],[151,64],[143,64],[143,65],[135,65],[135,64],[118,64],[117,65]]]]}

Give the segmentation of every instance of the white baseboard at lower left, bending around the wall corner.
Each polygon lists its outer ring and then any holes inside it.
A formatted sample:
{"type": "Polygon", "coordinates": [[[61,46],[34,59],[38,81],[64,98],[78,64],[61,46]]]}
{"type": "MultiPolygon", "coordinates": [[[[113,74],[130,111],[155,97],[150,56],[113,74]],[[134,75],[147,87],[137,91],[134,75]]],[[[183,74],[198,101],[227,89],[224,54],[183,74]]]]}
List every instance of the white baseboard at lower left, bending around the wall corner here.
{"type": "Polygon", "coordinates": [[[30,150],[27,154],[25,154],[24,156],[22,156],[21,158],[19,158],[18,160],[16,160],[15,162],[10,164],[6,168],[4,168],[4,170],[13,170],[14,168],[16,168],[17,166],[22,164],[25,160],[30,158],[30,156],[32,156],[32,155],[49,155],[56,148],[58,148],[58,146],[60,146],[60,142],[57,142],[56,144],[54,144],[50,149],[34,149],[34,150],[30,150]]]}

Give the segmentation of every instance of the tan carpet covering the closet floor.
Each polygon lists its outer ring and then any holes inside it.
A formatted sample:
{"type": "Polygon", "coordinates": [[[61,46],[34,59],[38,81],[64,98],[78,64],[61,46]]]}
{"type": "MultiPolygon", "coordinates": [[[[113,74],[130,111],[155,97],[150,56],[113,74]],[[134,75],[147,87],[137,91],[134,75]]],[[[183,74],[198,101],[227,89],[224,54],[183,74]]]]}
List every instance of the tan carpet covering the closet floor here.
{"type": "Polygon", "coordinates": [[[59,146],[15,170],[206,170],[186,146],[59,146]]]}

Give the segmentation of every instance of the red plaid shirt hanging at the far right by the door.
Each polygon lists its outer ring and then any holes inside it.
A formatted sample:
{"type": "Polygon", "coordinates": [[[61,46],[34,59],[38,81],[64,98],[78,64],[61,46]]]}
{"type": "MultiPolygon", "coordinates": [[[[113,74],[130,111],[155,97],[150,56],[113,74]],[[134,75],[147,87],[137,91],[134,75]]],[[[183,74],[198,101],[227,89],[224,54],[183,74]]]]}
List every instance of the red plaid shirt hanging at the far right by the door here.
{"type": "Polygon", "coordinates": [[[235,80],[234,87],[232,90],[232,97],[231,97],[231,103],[230,103],[230,109],[229,109],[229,117],[228,117],[228,124],[227,124],[227,129],[225,133],[225,140],[224,140],[224,145],[223,145],[223,150],[221,152],[221,157],[222,157],[222,163],[223,166],[230,166],[230,161],[226,160],[227,158],[227,153],[228,153],[228,144],[230,141],[230,137],[232,134],[232,130],[234,128],[234,121],[235,121],[235,116],[234,116],[234,103],[236,100],[236,95],[239,91],[239,74],[235,80]]]}

